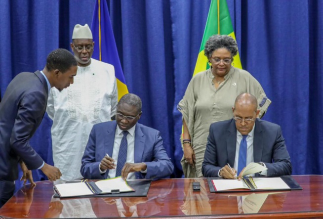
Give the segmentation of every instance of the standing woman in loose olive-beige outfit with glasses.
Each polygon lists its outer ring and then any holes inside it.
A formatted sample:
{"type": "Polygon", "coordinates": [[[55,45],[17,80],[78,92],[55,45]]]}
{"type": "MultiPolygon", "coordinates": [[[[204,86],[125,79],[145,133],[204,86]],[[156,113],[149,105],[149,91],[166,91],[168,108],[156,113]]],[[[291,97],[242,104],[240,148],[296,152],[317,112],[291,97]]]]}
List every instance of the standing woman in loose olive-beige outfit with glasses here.
{"type": "Polygon", "coordinates": [[[203,177],[201,169],[209,127],[214,122],[233,117],[232,107],[239,94],[248,92],[257,98],[259,118],[271,104],[250,73],[231,66],[237,53],[238,46],[232,37],[211,36],[204,49],[210,68],[192,78],[177,106],[183,115],[181,164],[185,177],[203,177]]]}

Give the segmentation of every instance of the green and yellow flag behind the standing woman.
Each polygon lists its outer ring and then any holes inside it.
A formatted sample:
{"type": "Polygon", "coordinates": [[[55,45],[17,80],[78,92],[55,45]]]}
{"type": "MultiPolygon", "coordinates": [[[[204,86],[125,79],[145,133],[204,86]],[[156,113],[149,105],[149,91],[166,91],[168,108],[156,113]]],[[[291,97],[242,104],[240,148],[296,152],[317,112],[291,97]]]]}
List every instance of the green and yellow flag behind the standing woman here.
{"type": "MultiPolygon", "coordinates": [[[[201,48],[193,76],[199,72],[205,71],[210,67],[207,63],[207,58],[204,55],[204,45],[208,38],[214,34],[229,35],[236,40],[226,0],[211,0],[201,48]]],[[[242,69],[239,52],[234,57],[233,63],[236,68],[242,69]]]]}

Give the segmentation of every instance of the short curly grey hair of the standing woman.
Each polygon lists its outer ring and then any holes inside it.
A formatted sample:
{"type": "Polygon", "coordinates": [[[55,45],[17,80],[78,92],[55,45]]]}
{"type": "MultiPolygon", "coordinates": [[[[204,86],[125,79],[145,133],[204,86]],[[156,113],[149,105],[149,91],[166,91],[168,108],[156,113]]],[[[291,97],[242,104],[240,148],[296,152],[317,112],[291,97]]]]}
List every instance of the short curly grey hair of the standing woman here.
{"type": "Polygon", "coordinates": [[[228,49],[232,58],[238,54],[238,44],[232,37],[228,35],[213,35],[205,43],[204,55],[209,60],[212,53],[219,48],[228,49]]]}

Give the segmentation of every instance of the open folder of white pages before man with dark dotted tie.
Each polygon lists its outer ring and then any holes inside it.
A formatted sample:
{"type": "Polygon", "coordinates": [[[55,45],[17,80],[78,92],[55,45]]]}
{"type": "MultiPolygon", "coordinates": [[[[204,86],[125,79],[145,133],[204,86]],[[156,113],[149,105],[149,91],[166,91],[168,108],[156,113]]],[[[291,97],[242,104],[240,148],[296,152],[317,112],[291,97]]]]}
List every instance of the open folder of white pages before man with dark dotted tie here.
{"type": "Polygon", "coordinates": [[[85,181],[54,185],[61,198],[109,193],[134,192],[121,176],[99,181],[85,181]]]}

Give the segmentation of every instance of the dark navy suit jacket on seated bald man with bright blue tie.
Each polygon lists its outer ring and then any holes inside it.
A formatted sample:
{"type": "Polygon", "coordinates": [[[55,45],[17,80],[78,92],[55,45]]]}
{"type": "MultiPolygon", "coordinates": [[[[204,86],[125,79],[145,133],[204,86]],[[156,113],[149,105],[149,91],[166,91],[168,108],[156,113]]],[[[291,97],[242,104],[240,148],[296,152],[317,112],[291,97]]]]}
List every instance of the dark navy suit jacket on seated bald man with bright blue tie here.
{"type": "MultiPolygon", "coordinates": [[[[233,167],[236,146],[237,129],[233,119],[211,124],[202,163],[203,176],[217,177],[227,163],[233,167]]],[[[266,164],[267,176],[291,175],[290,157],[280,126],[256,119],[253,160],[266,164]]]]}

